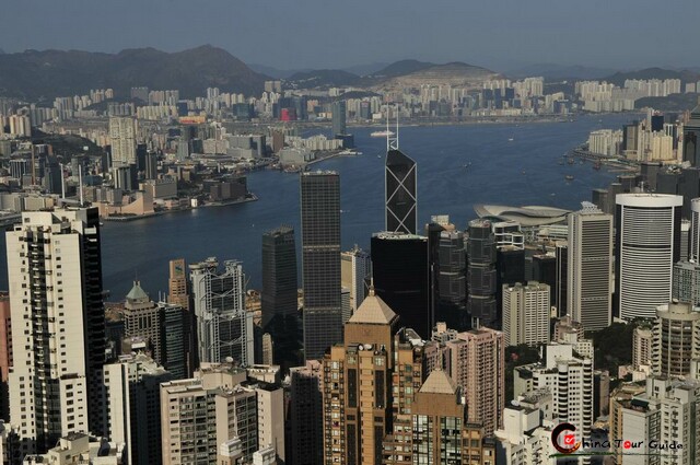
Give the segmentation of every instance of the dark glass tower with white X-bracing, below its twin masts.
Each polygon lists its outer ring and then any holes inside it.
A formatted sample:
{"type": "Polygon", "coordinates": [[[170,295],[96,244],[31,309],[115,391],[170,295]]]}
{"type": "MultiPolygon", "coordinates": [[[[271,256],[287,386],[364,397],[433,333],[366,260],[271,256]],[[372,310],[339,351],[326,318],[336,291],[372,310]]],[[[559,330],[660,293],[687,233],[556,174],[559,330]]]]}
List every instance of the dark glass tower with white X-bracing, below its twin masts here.
{"type": "Polygon", "coordinates": [[[386,153],[386,231],[416,234],[418,224],[418,166],[399,150],[386,153]]]}

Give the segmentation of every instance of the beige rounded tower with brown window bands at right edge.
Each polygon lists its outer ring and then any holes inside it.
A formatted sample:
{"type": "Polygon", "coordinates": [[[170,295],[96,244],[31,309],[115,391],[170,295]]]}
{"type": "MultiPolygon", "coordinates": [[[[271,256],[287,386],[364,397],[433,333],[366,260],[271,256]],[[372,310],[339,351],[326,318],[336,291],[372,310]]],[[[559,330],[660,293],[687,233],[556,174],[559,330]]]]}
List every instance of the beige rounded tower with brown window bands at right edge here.
{"type": "Polygon", "coordinates": [[[700,312],[688,302],[660,305],[652,330],[652,372],[687,376],[700,357],[700,312]]]}

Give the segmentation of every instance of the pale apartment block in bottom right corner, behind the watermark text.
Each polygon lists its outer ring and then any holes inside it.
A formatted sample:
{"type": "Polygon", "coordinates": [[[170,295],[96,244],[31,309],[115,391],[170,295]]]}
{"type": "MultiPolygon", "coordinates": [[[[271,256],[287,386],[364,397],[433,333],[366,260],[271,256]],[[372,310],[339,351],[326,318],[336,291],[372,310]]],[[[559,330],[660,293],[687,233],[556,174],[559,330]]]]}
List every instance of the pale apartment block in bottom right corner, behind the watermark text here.
{"type": "Polygon", "coordinates": [[[646,379],[646,391],[621,405],[620,439],[638,443],[625,449],[611,441],[623,464],[696,465],[698,463],[698,407],[700,383],[666,376],[646,379]],[[656,444],[653,446],[653,444],[656,444]],[[675,449],[660,445],[676,444],[675,449]],[[678,444],[681,447],[678,447],[678,444]],[[625,455],[625,454],[652,455],[625,455]]]}

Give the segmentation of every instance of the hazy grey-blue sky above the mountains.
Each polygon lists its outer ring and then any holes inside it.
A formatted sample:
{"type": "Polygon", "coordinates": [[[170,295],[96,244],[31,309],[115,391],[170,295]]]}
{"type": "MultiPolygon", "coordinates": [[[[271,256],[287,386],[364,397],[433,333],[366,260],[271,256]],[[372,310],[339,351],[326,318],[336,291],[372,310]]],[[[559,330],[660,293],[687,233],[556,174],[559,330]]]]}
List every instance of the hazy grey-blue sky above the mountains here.
{"type": "Polygon", "coordinates": [[[508,70],[700,66],[700,0],[21,0],[0,48],[174,51],[340,68],[417,58],[508,70]]]}

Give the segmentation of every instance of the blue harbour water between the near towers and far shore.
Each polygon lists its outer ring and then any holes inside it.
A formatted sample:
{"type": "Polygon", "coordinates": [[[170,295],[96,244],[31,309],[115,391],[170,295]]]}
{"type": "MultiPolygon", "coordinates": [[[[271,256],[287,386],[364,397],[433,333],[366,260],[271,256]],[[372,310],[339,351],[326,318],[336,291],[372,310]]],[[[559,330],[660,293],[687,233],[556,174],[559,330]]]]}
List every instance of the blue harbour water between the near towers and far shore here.
{"type": "MultiPolygon", "coordinates": [[[[619,128],[633,115],[580,117],[574,123],[406,127],[400,149],[418,163],[419,224],[432,214],[450,214],[458,228],[475,218],[474,204],[549,205],[575,209],[591,199],[591,189],[607,186],[616,176],[590,163],[559,165],[559,158],[587,138],[591,130],[619,128]],[[514,140],[511,142],[509,138],[514,140]],[[470,162],[471,166],[463,166],[470,162]],[[523,174],[523,171],[525,174],[523,174]],[[573,174],[567,182],[564,175],[573,174]]],[[[342,246],[369,248],[372,232],[384,225],[384,139],[370,138],[376,129],[353,128],[363,155],[336,158],[315,168],[340,173],[342,246]],[[377,158],[377,155],[382,155],[377,158]]],[[[121,299],[136,276],[155,297],[167,291],[167,261],[210,256],[243,261],[249,287],[260,286],[264,231],[291,224],[299,242],[299,175],[257,172],[248,187],[258,201],[165,214],[130,223],[105,223],[102,256],[105,289],[121,299]]],[[[4,237],[0,263],[5,264],[4,237]]],[[[7,268],[0,269],[0,289],[7,289],[7,268]]]]}

